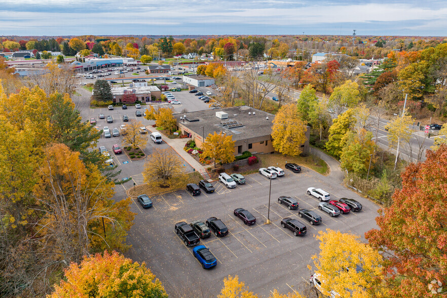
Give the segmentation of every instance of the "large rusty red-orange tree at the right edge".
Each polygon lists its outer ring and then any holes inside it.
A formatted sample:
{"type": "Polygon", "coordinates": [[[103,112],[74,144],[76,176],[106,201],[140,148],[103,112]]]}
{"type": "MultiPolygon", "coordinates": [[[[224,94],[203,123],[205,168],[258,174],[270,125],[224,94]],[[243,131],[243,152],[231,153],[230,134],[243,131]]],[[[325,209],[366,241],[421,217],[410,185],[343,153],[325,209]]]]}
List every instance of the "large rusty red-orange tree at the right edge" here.
{"type": "Polygon", "coordinates": [[[393,204],[379,210],[379,230],[365,234],[384,253],[389,297],[434,297],[429,285],[447,285],[447,145],[426,157],[406,167],[393,204]]]}

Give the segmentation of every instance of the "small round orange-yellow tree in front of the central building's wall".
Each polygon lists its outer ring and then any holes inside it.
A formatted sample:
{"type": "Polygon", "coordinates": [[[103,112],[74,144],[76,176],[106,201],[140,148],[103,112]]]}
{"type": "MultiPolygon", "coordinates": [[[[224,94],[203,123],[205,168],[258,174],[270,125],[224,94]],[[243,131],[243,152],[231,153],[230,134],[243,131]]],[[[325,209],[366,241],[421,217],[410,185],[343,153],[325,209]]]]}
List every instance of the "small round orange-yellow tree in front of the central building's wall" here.
{"type": "Polygon", "coordinates": [[[214,161],[214,167],[217,163],[231,163],[234,161],[234,143],[231,135],[225,133],[209,134],[202,144],[202,157],[211,158],[214,161]]]}

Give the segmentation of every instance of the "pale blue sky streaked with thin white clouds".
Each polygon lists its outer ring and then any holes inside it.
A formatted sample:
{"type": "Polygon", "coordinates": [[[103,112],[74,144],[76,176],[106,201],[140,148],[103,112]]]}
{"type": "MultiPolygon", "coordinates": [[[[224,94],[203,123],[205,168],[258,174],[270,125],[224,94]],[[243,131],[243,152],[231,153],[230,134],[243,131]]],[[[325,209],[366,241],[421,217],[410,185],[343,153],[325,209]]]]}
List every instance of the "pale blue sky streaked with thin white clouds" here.
{"type": "Polygon", "coordinates": [[[0,0],[0,35],[447,35],[447,1],[0,0]]]}

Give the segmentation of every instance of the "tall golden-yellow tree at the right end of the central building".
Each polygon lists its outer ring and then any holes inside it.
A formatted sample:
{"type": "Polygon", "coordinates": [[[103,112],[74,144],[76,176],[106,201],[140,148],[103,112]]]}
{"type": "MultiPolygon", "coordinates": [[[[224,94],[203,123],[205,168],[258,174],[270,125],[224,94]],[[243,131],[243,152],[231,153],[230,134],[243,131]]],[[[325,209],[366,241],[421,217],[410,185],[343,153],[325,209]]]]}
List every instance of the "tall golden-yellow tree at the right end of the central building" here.
{"type": "Polygon", "coordinates": [[[282,154],[301,154],[301,145],[306,141],[306,130],[306,123],[301,120],[295,105],[281,106],[273,120],[273,147],[282,154]]]}

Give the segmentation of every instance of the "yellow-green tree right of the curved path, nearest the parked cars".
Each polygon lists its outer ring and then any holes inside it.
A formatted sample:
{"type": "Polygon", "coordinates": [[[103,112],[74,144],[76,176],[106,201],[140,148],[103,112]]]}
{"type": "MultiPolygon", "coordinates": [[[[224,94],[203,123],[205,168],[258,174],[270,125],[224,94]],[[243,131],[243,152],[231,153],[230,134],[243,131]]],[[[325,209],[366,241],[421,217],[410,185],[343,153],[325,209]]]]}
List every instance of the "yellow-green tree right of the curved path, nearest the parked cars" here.
{"type": "Polygon", "coordinates": [[[358,132],[348,131],[342,142],[346,145],[340,157],[342,169],[359,175],[366,174],[369,160],[374,154],[375,143],[371,141],[372,133],[362,128],[358,132]]]}

